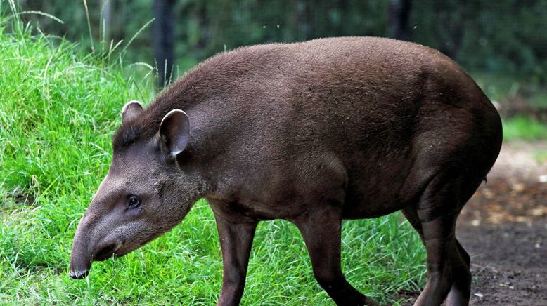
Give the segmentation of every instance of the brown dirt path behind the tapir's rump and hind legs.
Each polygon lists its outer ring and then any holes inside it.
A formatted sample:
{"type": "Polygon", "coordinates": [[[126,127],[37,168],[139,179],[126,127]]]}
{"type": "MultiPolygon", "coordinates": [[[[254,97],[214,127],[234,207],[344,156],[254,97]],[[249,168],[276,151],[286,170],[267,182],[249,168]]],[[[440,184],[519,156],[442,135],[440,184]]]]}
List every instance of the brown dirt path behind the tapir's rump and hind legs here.
{"type": "Polygon", "coordinates": [[[472,305],[547,305],[547,142],[503,145],[458,220],[472,256],[472,305]]]}

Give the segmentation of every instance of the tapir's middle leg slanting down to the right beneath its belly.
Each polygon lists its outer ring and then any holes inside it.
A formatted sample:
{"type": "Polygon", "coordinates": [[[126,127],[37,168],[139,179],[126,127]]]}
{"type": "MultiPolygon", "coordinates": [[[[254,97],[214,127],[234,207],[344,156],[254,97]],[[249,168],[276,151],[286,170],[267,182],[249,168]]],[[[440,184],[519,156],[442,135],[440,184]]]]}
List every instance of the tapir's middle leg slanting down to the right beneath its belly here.
{"type": "Polygon", "coordinates": [[[340,210],[335,206],[323,206],[292,222],[302,233],[316,280],[337,305],[377,305],[353,288],[342,274],[340,210]]]}

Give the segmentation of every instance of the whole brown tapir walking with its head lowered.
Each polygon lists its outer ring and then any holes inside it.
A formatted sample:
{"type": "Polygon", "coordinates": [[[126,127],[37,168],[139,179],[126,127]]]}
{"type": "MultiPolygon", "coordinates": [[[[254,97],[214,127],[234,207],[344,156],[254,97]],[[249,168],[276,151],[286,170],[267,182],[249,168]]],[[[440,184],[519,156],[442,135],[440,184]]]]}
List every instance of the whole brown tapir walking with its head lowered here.
{"type": "MultiPolygon", "coordinates": [[[[372,304],[340,268],[342,219],[403,211],[427,249],[416,305],[467,305],[456,218],[501,147],[501,120],[441,53],[373,37],[221,53],[146,109],[129,102],[112,164],[72,246],[70,276],[122,256],[207,199],[224,263],[219,305],[243,295],[261,220],[293,222],[338,305],[372,304]]],[[[363,232],[363,235],[366,235],[363,232]]]]}

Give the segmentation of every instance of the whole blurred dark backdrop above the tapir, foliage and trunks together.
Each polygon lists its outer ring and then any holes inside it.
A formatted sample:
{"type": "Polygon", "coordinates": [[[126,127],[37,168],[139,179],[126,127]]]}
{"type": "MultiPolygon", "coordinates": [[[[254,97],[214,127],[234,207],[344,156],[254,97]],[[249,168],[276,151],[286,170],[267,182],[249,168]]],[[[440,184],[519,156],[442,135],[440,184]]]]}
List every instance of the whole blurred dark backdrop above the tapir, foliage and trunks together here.
{"type": "Polygon", "coordinates": [[[19,5],[20,11],[63,20],[22,14],[44,33],[79,41],[86,49],[108,50],[131,41],[124,61],[157,67],[159,87],[200,60],[238,46],[387,36],[449,55],[500,102],[505,117],[547,120],[543,0],[89,0],[89,25],[83,0],[20,0],[19,5]]]}

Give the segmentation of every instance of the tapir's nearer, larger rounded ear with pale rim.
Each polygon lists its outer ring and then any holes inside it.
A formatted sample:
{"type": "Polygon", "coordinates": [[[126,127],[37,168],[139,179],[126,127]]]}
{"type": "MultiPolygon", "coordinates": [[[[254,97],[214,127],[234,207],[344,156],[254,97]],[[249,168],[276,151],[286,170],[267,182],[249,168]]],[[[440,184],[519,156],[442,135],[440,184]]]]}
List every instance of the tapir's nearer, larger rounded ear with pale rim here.
{"type": "Polygon", "coordinates": [[[168,112],[160,124],[160,146],[165,154],[176,157],[190,141],[190,120],[180,109],[168,112]]]}

